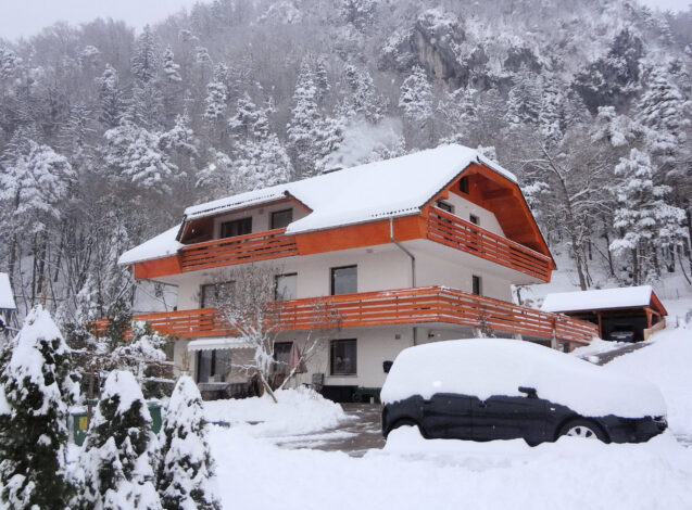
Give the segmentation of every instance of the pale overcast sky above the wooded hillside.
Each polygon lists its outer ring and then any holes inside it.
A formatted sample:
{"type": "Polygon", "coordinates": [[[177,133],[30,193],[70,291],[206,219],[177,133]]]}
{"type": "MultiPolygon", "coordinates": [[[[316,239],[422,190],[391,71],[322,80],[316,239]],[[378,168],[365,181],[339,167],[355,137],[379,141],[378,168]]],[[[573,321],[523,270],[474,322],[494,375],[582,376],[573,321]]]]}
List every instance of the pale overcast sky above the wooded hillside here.
{"type": "MultiPolygon", "coordinates": [[[[198,1],[200,0],[0,0],[0,37],[28,37],[58,21],[79,24],[95,17],[124,20],[128,25],[141,28],[147,23],[163,20],[180,8],[193,5],[198,1]]],[[[651,7],[671,10],[687,9],[692,2],[642,1],[651,7]]]]}

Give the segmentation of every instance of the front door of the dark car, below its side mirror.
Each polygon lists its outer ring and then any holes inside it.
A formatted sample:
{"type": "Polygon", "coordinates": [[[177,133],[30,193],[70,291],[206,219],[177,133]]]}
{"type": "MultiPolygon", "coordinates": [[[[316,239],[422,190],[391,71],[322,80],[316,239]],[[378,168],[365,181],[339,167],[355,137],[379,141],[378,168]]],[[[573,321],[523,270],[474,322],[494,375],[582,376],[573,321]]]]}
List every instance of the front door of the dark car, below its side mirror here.
{"type": "Polygon", "coordinates": [[[546,401],[534,396],[493,395],[471,404],[476,441],[525,438],[540,443],[545,436],[546,401]]]}

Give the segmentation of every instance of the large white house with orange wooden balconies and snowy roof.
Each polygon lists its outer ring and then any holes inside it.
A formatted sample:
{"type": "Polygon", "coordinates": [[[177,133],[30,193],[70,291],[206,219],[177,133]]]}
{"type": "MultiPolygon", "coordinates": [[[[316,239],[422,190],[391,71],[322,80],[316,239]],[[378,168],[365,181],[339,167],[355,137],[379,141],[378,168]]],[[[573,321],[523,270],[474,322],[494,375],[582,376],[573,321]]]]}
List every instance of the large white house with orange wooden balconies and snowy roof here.
{"type": "Polygon", "coordinates": [[[137,318],[179,339],[175,361],[202,384],[229,381],[228,360],[251,356],[214,307],[224,271],[250,264],[276,268],[287,318],[277,357],[304,344],[311,302],[338,314],[301,380],[335,399],[381,387],[387,361],[418,343],[478,329],[554,346],[596,334],[512,303],[512,284],[548,282],[555,264],[515,176],[461,145],[188,207],[119,263],[178,288],[176,311],[137,318]]]}

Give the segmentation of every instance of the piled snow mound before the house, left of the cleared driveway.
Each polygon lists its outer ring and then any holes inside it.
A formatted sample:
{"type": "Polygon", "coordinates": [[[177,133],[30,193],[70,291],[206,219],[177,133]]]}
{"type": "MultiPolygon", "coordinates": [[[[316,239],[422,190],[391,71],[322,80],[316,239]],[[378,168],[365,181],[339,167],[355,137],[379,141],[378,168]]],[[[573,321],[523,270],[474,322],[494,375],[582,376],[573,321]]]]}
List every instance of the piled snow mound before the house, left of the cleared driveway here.
{"type": "Polygon", "coordinates": [[[337,426],[347,419],[338,404],[307,388],[274,392],[278,404],[268,395],[244,399],[204,403],[204,418],[210,422],[257,423],[250,426],[253,435],[307,434],[337,426]]]}

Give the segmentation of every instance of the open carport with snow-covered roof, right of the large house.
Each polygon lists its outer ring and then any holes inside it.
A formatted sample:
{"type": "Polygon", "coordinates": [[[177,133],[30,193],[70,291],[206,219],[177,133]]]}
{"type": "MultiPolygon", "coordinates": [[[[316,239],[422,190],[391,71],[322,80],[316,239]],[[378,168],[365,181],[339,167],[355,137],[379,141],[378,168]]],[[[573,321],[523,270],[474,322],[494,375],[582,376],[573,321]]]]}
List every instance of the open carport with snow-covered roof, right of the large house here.
{"type": "Polygon", "coordinates": [[[548,294],[541,309],[593,322],[605,340],[631,331],[634,342],[665,327],[668,315],[651,285],[548,294]]]}

